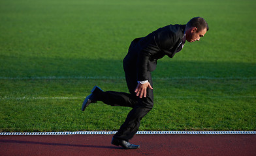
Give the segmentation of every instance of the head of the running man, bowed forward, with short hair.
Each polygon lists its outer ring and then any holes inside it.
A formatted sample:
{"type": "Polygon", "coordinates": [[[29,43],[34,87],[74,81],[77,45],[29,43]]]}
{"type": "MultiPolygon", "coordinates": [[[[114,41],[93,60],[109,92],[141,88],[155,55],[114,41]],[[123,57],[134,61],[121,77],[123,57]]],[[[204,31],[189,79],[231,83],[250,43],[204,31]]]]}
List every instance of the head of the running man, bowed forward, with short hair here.
{"type": "Polygon", "coordinates": [[[199,41],[208,30],[208,23],[203,18],[192,18],[185,27],[186,40],[188,42],[199,41]]]}

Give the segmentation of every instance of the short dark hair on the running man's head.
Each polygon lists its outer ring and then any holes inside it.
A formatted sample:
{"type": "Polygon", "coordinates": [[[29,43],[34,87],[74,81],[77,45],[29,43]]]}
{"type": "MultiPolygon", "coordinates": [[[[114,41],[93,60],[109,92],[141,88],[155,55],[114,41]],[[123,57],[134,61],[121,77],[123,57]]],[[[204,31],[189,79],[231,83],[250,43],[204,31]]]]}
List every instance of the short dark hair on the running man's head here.
{"type": "Polygon", "coordinates": [[[187,22],[186,28],[196,27],[197,32],[201,31],[202,29],[206,28],[206,31],[209,30],[208,23],[200,17],[192,18],[187,22]]]}

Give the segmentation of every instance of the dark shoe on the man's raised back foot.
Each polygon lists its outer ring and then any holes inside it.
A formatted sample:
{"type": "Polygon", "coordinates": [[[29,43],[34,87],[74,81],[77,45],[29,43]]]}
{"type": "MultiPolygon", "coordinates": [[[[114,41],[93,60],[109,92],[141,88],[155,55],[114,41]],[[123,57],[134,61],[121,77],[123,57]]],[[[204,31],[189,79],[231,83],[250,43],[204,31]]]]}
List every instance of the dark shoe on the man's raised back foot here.
{"type": "Polygon", "coordinates": [[[94,86],[91,90],[91,94],[89,94],[89,96],[87,96],[84,100],[84,103],[82,105],[82,111],[84,111],[90,103],[95,103],[97,101],[96,94],[99,94],[99,92],[103,92],[103,90],[99,88],[99,86],[94,86]]]}

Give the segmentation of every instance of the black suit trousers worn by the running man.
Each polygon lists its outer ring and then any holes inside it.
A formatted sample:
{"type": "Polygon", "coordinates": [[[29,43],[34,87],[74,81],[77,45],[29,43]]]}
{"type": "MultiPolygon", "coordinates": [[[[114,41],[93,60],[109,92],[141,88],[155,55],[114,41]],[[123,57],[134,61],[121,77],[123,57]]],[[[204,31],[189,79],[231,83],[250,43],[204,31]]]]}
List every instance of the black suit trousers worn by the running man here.
{"type": "MultiPolygon", "coordinates": [[[[138,131],[140,120],[153,108],[153,90],[148,88],[146,98],[138,98],[135,93],[135,88],[138,85],[136,70],[129,68],[129,65],[127,66],[125,64],[125,59],[123,68],[130,94],[114,91],[103,92],[100,101],[103,101],[107,105],[133,108],[127,115],[123,125],[121,125],[118,132],[114,135],[114,138],[129,141],[138,131]]],[[[148,81],[153,87],[151,75],[148,77],[148,81]]]]}

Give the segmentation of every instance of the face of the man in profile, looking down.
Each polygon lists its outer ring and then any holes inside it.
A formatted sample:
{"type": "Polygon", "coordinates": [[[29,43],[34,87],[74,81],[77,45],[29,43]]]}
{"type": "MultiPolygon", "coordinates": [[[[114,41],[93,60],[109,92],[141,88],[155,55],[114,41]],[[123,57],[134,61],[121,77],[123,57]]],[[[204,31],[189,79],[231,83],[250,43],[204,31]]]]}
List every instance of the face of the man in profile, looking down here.
{"type": "Polygon", "coordinates": [[[201,37],[207,32],[206,28],[202,29],[201,31],[197,32],[196,27],[192,27],[185,32],[185,38],[188,42],[195,42],[199,41],[201,37]]]}

